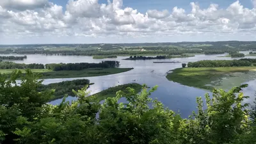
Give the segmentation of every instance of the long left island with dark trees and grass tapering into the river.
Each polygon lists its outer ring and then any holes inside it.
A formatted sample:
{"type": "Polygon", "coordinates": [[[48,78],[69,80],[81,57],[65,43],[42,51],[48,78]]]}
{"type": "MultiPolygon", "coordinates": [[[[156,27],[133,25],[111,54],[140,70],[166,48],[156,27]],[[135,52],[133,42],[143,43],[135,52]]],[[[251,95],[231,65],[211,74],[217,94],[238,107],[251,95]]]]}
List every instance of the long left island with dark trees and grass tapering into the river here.
{"type": "Polygon", "coordinates": [[[31,68],[32,72],[42,74],[42,79],[70,78],[70,77],[93,77],[106,76],[127,72],[133,68],[118,68],[119,61],[102,61],[101,63],[51,63],[51,64],[24,64],[10,61],[0,62],[0,73],[10,75],[13,70],[26,72],[31,68]]]}

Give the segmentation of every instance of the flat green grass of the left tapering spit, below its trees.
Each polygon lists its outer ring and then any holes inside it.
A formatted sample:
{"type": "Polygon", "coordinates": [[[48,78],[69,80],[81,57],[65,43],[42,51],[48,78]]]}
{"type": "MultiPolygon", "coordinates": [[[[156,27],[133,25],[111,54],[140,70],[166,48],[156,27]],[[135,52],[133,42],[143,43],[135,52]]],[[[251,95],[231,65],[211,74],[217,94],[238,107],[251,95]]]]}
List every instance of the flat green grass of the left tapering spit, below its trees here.
{"type": "MultiPolygon", "coordinates": [[[[94,77],[94,76],[106,76],[110,74],[118,74],[121,72],[127,72],[133,68],[87,68],[84,70],[61,70],[52,71],[47,69],[32,69],[32,72],[38,72],[42,74],[42,79],[55,79],[55,78],[71,78],[71,77],[94,77]]],[[[21,70],[25,73],[25,70],[21,70]]],[[[1,74],[10,74],[13,70],[0,70],[1,74]]]]}

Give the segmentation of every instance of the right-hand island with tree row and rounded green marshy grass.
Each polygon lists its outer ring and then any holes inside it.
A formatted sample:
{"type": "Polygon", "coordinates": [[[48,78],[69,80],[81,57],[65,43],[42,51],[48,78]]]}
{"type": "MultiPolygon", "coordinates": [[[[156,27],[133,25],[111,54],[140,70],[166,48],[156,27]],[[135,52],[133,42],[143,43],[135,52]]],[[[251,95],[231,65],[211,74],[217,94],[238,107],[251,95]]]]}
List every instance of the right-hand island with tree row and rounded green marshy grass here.
{"type": "MultiPolygon", "coordinates": [[[[244,72],[252,72],[251,75],[254,76],[256,73],[255,62],[256,59],[189,62],[188,68],[176,68],[171,70],[171,72],[166,75],[166,78],[169,81],[186,86],[212,90],[221,83],[223,77],[239,77],[242,76],[244,72]]],[[[243,79],[234,81],[234,83],[239,85],[243,83],[243,79]]]]}

